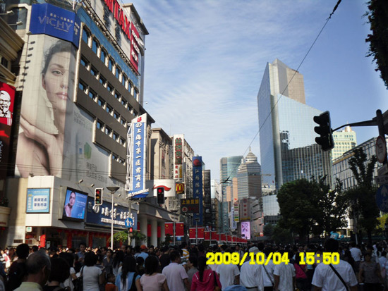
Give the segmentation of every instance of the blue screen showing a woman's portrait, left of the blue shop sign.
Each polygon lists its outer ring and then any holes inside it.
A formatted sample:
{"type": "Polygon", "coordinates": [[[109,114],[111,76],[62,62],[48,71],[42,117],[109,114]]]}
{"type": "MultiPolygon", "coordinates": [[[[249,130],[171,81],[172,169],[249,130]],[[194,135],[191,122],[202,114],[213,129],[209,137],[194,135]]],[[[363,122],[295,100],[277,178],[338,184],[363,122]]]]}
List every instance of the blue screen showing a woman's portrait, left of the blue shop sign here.
{"type": "Polygon", "coordinates": [[[66,190],[65,204],[63,205],[62,218],[85,218],[87,194],[68,188],[66,190]]]}

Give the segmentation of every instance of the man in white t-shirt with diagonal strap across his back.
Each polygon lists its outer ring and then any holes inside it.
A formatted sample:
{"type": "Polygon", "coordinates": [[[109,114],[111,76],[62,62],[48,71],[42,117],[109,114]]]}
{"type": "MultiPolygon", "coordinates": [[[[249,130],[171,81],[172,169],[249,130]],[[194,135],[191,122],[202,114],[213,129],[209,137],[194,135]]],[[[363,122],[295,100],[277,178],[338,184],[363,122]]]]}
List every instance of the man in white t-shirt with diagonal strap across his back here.
{"type": "MultiPolygon", "coordinates": [[[[325,243],[326,252],[338,252],[339,243],[337,240],[329,238],[325,243]]],[[[353,268],[346,261],[339,261],[339,264],[332,264],[332,266],[339,273],[341,278],[345,281],[346,285],[350,287],[351,291],[357,291],[358,281],[353,268]]],[[[330,265],[323,263],[318,264],[315,268],[313,282],[314,291],[346,291],[344,283],[341,282],[339,276],[334,272],[330,265]]]]}

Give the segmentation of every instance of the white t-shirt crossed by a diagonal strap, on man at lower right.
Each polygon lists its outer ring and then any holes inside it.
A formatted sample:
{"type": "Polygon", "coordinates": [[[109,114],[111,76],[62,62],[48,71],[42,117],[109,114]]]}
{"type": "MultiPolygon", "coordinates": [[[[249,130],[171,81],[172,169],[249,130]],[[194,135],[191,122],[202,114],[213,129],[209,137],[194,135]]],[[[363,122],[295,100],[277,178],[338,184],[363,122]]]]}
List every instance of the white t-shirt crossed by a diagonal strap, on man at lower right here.
{"type": "MultiPolygon", "coordinates": [[[[353,287],[358,284],[356,274],[348,262],[340,260],[339,264],[332,266],[334,266],[334,268],[337,270],[339,275],[341,275],[342,279],[344,279],[348,286],[353,287]]],[[[315,268],[312,284],[317,287],[322,287],[322,291],[346,290],[344,284],[338,278],[336,273],[334,273],[332,268],[330,268],[329,265],[325,265],[323,263],[318,264],[317,268],[315,268]]]]}

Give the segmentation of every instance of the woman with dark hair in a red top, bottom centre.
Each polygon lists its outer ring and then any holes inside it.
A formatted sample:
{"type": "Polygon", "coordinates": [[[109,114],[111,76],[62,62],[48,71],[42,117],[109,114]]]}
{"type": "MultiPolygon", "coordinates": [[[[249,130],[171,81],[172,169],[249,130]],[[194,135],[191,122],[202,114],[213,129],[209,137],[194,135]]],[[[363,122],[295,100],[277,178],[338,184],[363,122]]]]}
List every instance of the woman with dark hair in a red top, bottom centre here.
{"type": "Polygon", "coordinates": [[[207,268],[206,261],[205,256],[198,258],[198,272],[193,275],[191,291],[213,291],[217,286],[222,289],[219,276],[212,269],[207,268]]]}

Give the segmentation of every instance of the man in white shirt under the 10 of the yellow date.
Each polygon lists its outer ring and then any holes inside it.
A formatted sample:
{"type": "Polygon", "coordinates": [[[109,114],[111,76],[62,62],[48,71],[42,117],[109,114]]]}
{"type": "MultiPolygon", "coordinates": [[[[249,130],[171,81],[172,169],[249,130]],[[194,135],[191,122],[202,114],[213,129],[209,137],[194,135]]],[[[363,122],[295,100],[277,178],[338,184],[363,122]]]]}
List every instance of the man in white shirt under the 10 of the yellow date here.
{"type": "MultiPolygon", "coordinates": [[[[257,249],[257,247],[251,247],[249,252],[257,254],[259,249],[257,249]]],[[[262,267],[261,264],[250,264],[250,259],[245,260],[245,263],[241,266],[240,270],[240,284],[249,291],[264,291],[262,267]]]]}

